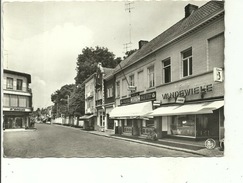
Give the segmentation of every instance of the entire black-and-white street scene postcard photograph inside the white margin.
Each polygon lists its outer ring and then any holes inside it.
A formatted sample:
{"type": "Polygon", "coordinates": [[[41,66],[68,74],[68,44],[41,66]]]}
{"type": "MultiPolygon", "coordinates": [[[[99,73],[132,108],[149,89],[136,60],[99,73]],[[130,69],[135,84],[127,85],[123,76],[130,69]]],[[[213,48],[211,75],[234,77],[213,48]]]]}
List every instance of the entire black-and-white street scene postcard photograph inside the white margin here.
{"type": "Polygon", "coordinates": [[[4,159],[224,157],[224,1],[2,12],[4,159]]]}

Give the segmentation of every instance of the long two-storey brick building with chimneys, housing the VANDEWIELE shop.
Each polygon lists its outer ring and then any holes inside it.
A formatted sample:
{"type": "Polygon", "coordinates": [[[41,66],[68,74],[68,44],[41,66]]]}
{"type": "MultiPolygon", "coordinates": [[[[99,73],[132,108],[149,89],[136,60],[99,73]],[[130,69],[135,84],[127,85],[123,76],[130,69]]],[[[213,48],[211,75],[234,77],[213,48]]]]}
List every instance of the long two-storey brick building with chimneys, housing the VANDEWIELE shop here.
{"type": "Polygon", "coordinates": [[[155,128],[159,138],[224,136],[224,2],[188,4],[184,11],[115,68],[110,118],[124,134],[155,128]]]}

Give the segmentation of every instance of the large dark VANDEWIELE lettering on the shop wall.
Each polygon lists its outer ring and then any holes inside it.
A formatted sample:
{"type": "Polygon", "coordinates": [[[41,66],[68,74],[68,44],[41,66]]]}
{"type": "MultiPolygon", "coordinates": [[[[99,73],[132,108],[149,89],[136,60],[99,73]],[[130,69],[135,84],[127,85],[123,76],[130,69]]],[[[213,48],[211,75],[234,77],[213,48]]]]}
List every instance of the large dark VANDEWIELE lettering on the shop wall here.
{"type": "Polygon", "coordinates": [[[213,84],[205,85],[205,86],[198,86],[195,88],[189,88],[184,90],[179,90],[175,92],[165,93],[162,94],[163,99],[171,99],[171,98],[178,98],[178,97],[186,97],[189,95],[196,95],[200,93],[207,93],[213,91],[213,84]]]}

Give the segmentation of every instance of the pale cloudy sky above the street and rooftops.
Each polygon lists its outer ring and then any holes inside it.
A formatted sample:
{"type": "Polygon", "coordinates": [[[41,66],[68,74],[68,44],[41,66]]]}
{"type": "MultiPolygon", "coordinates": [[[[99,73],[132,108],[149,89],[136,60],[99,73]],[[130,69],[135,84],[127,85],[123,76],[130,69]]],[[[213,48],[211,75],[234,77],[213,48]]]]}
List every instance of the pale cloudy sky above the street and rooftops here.
{"type": "Polygon", "coordinates": [[[207,1],[31,1],[2,5],[3,67],[31,74],[33,107],[52,105],[51,94],[75,83],[85,47],[102,46],[123,57],[184,17],[184,7],[207,1]],[[129,26],[129,24],[131,26],[129,26]]]}

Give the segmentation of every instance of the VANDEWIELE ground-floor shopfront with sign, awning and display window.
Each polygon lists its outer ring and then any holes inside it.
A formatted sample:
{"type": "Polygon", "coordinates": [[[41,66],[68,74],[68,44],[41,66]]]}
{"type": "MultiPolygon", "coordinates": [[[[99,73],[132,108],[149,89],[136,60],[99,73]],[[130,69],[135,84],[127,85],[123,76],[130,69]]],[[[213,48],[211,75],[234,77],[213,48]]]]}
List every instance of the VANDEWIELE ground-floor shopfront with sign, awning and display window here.
{"type": "Polygon", "coordinates": [[[161,123],[160,138],[224,137],[224,83],[212,78],[213,72],[208,72],[157,88],[161,106],[151,115],[161,123]]]}

